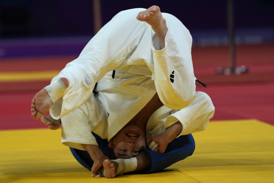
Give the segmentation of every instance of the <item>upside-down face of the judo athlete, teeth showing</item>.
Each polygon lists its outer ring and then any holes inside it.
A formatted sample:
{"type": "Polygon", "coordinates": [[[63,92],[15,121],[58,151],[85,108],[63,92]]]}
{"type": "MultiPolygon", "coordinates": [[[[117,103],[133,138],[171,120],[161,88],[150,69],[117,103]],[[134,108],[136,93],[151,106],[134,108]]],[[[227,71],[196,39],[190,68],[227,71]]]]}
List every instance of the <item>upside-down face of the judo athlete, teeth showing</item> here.
{"type": "Polygon", "coordinates": [[[137,156],[140,149],[146,148],[144,132],[135,125],[129,125],[118,132],[108,143],[116,158],[128,159],[137,156]]]}

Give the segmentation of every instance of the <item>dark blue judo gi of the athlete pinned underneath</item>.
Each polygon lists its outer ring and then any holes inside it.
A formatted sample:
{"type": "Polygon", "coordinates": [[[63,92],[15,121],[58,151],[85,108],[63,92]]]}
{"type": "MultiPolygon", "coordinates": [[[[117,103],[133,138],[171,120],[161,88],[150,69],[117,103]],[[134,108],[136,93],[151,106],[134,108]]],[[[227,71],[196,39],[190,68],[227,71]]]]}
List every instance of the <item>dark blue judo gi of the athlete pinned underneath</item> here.
{"type": "MultiPolygon", "coordinates": [[[[98,135],[92,133],[96,138],[100,150],[104,155],[109,157],[110,148],[108,147],[108,140],[102,139],[98,135]]],[[[188,156],[191,156],[195,149],[195,142],[192,134],[183,135],[178,138],[175,138],[170,142],[166,148],[165,153],[156,153],[152,152],[147,148],[142,149],[150,154],[151,157],[151,167],[144,170],[142,173],[153,173],[159,172],[170,165],[185,159],[188,156]]],[[[87,151],[78,150],[70,148],[74,158],[85,168],[91,170],[93,165],[93,160],[90,158],[90,155],[87,151]]]]}

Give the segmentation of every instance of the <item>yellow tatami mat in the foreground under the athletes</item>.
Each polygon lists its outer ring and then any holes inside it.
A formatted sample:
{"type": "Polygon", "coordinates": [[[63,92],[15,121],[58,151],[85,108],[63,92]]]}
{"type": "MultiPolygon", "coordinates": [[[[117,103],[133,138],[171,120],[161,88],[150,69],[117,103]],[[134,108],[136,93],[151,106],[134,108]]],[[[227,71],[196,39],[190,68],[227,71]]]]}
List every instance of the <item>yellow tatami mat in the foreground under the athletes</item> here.
{"type": "Polygon", "coordinates": [[[61,130],[0,131],[0,182],[274,182],[274,126],[210,122],[194,154],[164,172],[93,178],[61,144],[61,130]]]}

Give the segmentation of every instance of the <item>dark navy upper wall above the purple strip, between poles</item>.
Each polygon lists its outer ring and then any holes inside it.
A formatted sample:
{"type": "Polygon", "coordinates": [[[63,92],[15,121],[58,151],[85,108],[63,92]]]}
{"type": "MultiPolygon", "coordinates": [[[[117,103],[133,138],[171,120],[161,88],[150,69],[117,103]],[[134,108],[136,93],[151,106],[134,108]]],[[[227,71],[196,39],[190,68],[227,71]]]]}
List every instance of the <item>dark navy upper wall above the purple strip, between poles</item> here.
{"type": "MultiPolygon", "coordinates": [[[[156,4],[162,12],[178,17],[190,30],[226,29],[226,3],[225,0],[101,0],[102,21],[106,24],[116,13],[125,9],[147,8],[156,4]]],[[[236,0],[234,7],[236,27],[273,28],[274,1],[236,0]]],[[[0,25],[2,39],[92,35],[92,0],[0,1],[0,25]]]]}

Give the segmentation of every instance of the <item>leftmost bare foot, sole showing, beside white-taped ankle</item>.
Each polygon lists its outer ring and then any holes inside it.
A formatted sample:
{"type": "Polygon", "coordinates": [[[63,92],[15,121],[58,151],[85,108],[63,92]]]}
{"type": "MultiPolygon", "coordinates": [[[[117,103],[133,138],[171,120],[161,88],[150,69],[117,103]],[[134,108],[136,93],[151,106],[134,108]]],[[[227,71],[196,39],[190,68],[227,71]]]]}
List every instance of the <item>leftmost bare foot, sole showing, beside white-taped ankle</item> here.
{"type": "Polygon", "coordinates": [[[49,111],[52,104],[47,90],[41,89],[31,101],[31,116],[35,120],[42,118],[49,111]]]}

